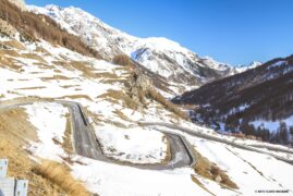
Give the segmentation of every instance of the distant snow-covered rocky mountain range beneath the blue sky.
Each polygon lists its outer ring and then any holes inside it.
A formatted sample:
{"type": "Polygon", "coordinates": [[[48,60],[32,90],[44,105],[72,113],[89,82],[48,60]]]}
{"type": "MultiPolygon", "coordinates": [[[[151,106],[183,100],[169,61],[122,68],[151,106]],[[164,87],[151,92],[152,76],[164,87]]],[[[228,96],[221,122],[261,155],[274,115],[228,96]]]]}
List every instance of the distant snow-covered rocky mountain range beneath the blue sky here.
{"type": "Polygon", "coordinates": [[[82,37],[105,59],[110,60],[115,54],[126,53],[145,68],[175,83],[198,86],[247,69],[219,63],[209,57],[200,58],[178,42],[163,37],[131,36],[78,8],[30,5],[28,9],[35,13],[49,15],[68,32],[82,37]]]}

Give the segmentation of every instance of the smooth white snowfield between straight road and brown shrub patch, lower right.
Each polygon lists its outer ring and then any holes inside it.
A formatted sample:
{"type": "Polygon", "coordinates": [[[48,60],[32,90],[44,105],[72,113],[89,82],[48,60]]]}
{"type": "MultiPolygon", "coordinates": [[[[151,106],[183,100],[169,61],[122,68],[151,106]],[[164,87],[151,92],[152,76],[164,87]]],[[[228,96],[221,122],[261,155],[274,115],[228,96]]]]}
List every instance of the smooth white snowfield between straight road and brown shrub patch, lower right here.
{"type": "Polygon", "coordinates": [[[237,182],[239,192],[244,195],[252,195],[257,189],[291,189],[290,193],[293,193],[292,183],[289,180],[293,170],[288,163],[266,155],[208,140],[195,139],[194,144],[209,160],[228,171],[234,182],[237,182]]]}

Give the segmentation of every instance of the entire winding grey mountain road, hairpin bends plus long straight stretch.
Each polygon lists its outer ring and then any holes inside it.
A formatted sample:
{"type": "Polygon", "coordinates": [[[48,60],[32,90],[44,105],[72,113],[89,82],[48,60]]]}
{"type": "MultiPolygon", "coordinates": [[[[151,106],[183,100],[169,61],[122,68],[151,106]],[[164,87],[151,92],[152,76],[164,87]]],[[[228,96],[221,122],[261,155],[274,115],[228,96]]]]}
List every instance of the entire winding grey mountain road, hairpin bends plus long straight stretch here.
{"type": "MultiPolygon", "coordinates": [[[[34,102],[46,102],[46,101],[34,101],[34,102]]],[[[136,164],[136,163],[130,163],[130,162],[121,162],[119,160],[109,158],[106,155],[103,155],[102,149],[99,145],[99,142],[93,130],[93,126],[88,123],[88,120],[83,111],[83,107],[78,102],[61,101],[61,100],[54,100],[51,102],[58,102],[69,108],[70,113],[71,113],[73,147],[74,147],[75,152],[80,156],[109,162],[109,163],[131,166],[131,167],[135,167],[139,169],[148,169],[148,170],[169,170],[169,169],[183,168],[183,167],[193,167],[194,164],[196,164],[196,157],[194,156],[193,149],[191,145],[188,144],[188,142],[180,134],[175,134],[175,133],[171,133],[167,131],[160,131],[160,132],[166,135],[166,137],[168,138],[170,143],[171,160],[168,161],[168,163],[136,164]]],[[[10,110],[13,108],[17,108],[25,105],[32,105],[32,103],[33,102],[0,106],[0,110],[10,110]]],[[[279,148],[268,147],[265,145],[264,146],[257,145],[253,147],[248,145],[236,144],[228,139],[219,138],[217,136],[208,135],[202,132],[197,132],[197,131],[179,126],[179,125],[174,125],[174,124],[157,123],[157,122],[139,122],[138,124],[143,126],[164,126],[168,128],[178,130],[178,131],[187,133],[190,135],[193,135],[199,138],[222,143],[222,144],[235,147],[235,148],[266,154],[271,157],[274,157],[276,159],[293,164],[293,160],[289,160],[278,155],[263,151],[257,148],[267,148],[269,150],[277,151],[277,152],[283,151],[283,152],[292,154],[292,151],[290,150],[282,150],[282,149],[280,150],[279,148]]]]}

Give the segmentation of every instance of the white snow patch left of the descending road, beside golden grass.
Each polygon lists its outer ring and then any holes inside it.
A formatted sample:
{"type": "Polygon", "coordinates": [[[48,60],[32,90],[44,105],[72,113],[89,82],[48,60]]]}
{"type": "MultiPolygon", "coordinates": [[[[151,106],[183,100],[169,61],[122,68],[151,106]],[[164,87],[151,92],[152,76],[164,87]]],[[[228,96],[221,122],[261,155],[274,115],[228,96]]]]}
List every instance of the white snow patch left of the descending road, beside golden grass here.
{"type": "Polygon", "coordinates": [[[52,102],[35,102],[24,106],[30,123],[36,127],[39,142],[30,143],[29,150],[37,157],[61,160],[64,156],[62,144],[66,128],[65,114],[69,110],[62,105],[52,102]]]}

